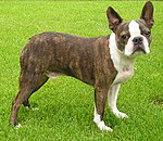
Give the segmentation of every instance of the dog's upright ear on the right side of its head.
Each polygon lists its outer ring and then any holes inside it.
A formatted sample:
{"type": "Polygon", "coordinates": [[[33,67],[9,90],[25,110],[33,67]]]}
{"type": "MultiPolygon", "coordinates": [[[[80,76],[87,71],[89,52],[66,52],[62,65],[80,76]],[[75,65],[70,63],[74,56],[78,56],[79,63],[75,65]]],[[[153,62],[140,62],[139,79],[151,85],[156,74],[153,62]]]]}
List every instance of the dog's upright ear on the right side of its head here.
{"type": "Polygon", "coordinates": [[[152,28],[153,24],[154,24],[154,20],[153,20],[153,4],[151,1],[146,2],[142,12],[141,12],[141,16],[140,18],[143,20],[147,24],[147,26],[149,28],[152,28]]]}

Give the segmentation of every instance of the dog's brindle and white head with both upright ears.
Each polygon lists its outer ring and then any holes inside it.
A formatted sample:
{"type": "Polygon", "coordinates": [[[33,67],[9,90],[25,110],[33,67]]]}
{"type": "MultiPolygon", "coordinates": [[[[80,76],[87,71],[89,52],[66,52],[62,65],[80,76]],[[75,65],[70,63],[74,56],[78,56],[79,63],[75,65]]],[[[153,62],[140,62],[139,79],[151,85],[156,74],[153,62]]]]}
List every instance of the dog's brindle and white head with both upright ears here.
{"type": "Polygon", "coordinates": [[[106,11],[109,28],[115,34],[117,49],[127,56],[148,54],[153,26],[153,4],[146,2],[140,18],[123,22],[123,18],[111,8],[106,11]]]}

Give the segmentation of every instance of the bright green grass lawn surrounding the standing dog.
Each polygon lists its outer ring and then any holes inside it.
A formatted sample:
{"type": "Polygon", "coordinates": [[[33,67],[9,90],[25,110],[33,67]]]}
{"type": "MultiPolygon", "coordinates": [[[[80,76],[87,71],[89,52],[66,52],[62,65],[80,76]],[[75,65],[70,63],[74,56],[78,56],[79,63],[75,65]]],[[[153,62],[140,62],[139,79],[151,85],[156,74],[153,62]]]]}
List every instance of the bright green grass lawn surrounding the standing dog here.
{"type": "Polygon", "coordinates": [[[18,88],[20,52],[42,31],[96,37],[111,34],[105,11],[112,5],[125,21],[138,18],[143,1],[0,1],[0,140],[1,141],[163,141],[163,2],[153,2],[155,24],[151,53],[137,60],[135,76],[122,86],[117,119],[108,106],[101,132],[93,124],[93,89],[74,78],[49,80],[32,98],[38,111],[18,113],[22,128],[9,126],[18,88]]]}

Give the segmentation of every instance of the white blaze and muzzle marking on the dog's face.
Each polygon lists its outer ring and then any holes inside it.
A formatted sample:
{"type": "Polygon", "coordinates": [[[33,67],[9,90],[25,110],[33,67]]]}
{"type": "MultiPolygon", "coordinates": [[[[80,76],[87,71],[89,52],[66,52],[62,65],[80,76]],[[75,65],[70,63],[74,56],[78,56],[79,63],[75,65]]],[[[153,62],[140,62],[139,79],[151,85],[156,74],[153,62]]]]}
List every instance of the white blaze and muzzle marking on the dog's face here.
{"type": "MultiPolygon", "coordinates": [[[[142,43],[145,46],[145,52],[149,53],[149,43],[148,40],[145,36],[141,35],[140,28],[139,28],[139,24],[136,21],[131,21],[128,25],[129,27],[129,34],[130,34],[130,38],[128,39],[128,42],[125,47],[125,55],[131,55],[134,52],[134,43],[133,43],[133,39],[135,37],[141,37],[143,39],[142,43]]],[[[136,54],[141,54],[142,52],[136,52],[136,54]]]]}

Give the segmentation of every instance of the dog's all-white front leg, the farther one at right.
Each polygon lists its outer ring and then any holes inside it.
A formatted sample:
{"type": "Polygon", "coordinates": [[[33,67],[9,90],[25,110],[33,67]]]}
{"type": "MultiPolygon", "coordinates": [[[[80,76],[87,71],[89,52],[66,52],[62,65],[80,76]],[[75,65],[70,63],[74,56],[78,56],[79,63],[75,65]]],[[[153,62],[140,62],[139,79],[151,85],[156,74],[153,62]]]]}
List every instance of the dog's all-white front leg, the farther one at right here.
{"type": "Polygon", "coordinates": [[[120,87],[121,85],[117,84],[117,85],[114,85],[110,88],[109,90],[109,106],[111,108],[111,111],[113,112],[113,114],[118,117],[118,118],[125,118],[125,117],[128,117],[125,113],[122,113],[117,110],[117,106],[116,106],[116,101],[117,101],[117,94],[118,94],[118,91],[120,91],[120,87]]]}

